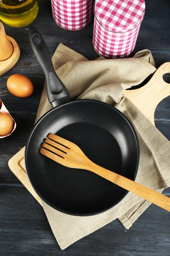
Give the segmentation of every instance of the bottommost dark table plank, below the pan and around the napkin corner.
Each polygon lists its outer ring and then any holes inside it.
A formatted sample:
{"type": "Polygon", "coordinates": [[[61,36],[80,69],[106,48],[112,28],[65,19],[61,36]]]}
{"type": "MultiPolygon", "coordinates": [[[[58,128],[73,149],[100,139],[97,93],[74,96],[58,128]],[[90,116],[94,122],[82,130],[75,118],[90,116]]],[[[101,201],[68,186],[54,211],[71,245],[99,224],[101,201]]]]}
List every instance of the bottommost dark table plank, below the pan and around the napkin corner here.
{"type": "Polygon", "coordinates": [[[2,256],[169,256],[169,212],[154,205],[129,230],[116,220],[63,251],[42,207],[23,186],[0,186],[0,205],[2,256]]]}

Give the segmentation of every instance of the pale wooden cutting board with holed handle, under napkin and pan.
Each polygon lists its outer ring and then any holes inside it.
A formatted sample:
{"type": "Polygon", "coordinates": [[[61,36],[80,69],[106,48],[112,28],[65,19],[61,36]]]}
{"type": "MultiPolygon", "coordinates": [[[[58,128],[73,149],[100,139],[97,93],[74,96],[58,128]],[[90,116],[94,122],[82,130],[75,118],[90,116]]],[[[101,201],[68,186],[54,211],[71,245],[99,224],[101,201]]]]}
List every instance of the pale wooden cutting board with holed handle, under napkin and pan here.
{"type": "MultiPolygon", "coordinates": [[[[126,90],[124,92],[127,99],[130,99],[134,105],[150,120],[154,125],[154,113],[158,103],[170,95],[170,84],[163,80],[163,75],[170,73],[170,62],[164,63],[156,70],[156,73],[150,81],[143,87],[136,90],[126,90]]],[[[14,175],[28,189],[34,198],[41,204],[41,200],[31,186],[26,175],[24,162],[25,147],[15,154],[9,161],[8,166],[14,175]]]]}

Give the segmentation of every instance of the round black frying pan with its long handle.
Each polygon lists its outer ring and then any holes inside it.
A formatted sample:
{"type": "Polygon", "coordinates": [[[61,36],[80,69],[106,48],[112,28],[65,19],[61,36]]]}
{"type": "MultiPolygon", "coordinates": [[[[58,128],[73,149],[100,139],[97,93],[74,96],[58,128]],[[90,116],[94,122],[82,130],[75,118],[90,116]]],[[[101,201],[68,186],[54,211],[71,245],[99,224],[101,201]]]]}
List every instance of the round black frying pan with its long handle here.
{"type": "Polygon", "coordinates": [[[28,178],[40,198],[61,212],[81,216],[104,212],[118,204],[127,191],[87,170],[59,165],[40,154],[40,145],[48,133],[57,134],[77,144],[99,166],[134,180],[139,165],[136,132],[123,113],[106,103],[71,101],[54,71],[44,39],[33,26],[29,36],[53,108],[38,120],[28,137],[28,178]]]}

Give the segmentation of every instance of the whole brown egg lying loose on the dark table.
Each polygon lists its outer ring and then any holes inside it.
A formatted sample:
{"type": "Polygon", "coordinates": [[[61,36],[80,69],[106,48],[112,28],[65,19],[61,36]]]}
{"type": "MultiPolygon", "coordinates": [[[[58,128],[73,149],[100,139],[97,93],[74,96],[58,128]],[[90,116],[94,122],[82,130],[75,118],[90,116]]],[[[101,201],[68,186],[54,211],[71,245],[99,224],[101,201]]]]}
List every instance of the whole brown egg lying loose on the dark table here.
{"type": "Polygon", "coordinates": [[[8,78],[7,88],[14,96],[25,98],[33,93],[34,87],[31,81],[23,75],[15,74],[8,78]]]}

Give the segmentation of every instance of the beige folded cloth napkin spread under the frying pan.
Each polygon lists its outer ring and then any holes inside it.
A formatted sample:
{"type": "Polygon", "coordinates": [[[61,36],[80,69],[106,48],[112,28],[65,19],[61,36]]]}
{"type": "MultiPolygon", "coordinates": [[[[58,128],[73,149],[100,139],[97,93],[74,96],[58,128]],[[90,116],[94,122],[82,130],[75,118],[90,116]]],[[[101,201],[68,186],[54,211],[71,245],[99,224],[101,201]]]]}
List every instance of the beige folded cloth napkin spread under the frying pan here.
{"type": "MultiPolygon", "coordinates": [[[[52,58],[54,69],[67,87],[72,99],[96,99],[119,108],[136,129],[140,145],[140,163],[136,182],[161,192],[170,186],[170,142],[130,102],[123,92],[140,84],[156,68],[149,50],[133,58],[88,61],[85,57],[59,44],[52,58]]],[[[51,109],[42,92],[36,121],[51,109]]],[[[59,212],[42,201],[51,229],[61,249],[119,218],[128,229],[150,205],[150,202],[128,193],[115,207],[99,215],[79,217],[59,212]]]]}

